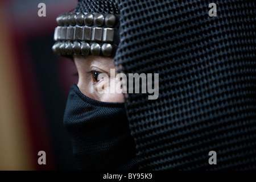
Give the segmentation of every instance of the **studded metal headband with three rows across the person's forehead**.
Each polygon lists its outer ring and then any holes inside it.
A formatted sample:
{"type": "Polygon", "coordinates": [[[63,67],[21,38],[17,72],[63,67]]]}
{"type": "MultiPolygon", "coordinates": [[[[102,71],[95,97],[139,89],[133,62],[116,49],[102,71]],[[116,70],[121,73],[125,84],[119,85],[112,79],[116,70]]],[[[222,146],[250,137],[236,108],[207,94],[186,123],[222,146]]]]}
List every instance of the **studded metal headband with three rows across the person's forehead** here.
{"type": "Polygon", "coordinates": [[[56,18],[56,55],[114,56],[119,43],[118,15],[65,13],[56,18]]]}

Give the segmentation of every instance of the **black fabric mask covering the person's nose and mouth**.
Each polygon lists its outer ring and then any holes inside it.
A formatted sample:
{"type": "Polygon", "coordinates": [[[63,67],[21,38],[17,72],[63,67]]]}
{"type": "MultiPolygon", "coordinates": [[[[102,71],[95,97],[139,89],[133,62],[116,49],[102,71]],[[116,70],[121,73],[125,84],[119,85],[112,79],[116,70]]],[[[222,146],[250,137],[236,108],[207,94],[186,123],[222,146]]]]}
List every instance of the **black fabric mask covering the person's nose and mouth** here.
{"type": "Polygon", "coordinates": [[[134,139],[123,103],[93,100],[77,85],[69,90],[64,114],[78,166],[84,170],[137,168],[134,139]]]}

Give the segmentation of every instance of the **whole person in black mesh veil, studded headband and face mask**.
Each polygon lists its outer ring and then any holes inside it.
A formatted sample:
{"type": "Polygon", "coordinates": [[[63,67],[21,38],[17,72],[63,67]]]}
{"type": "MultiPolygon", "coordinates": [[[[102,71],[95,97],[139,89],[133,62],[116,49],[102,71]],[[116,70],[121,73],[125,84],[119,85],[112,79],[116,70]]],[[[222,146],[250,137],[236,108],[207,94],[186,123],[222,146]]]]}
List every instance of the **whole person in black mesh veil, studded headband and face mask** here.
{"type": "Polygon", "coordinates": [[[81,169],[256,168],[255,3],[217,2],[217,16],[208,6],[80,0],[57,18],[53,51],[79,72],[64,125],[81,169]],[[118,73],[159,75],[146,77],[159,97],[100,93],[118,73]]]}

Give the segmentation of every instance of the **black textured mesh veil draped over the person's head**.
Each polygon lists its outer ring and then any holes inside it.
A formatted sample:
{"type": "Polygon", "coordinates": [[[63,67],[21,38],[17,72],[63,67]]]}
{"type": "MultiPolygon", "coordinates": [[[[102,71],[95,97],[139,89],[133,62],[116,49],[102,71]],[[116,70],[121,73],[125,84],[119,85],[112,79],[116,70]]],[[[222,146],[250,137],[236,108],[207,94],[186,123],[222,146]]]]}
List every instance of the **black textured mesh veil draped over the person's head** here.
{"type": "Polygon", "coordinates": [[[209,3],[90,0],[76,9],[118,6],[115,64],[159,73],[157,100],[129,93],[125,103],[140,169],[256,169],[255,2],[214,1],[217,17],[209,3]]]}

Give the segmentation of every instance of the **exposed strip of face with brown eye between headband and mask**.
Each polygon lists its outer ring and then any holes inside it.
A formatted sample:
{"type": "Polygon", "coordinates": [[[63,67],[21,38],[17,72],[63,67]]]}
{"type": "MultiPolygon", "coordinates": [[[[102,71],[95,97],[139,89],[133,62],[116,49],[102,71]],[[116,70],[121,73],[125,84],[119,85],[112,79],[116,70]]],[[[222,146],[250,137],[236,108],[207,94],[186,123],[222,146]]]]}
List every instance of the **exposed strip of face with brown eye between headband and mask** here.
{"type": "MultiPolygon", "coordinates": [[[[113,63],[113,57],[74,55],[73,58],[79,74],[77,86],[85,96],[102,102],[124,101],[122,93],[98,92],[98,88],[109,90],[110,87],[115,87],[116,83],[119,81],[116,77],[110,77],[110,69],[117,70],[113,63]],[[98,77],[100,73],[105,73],[108,77],[98,77]],[[115,82],[115,84],[113,84],[113,82],[115,82]],[[104,88],[104,86],[102,87],[101,85],[108,85],[108,88],[106,88],[106,86],[104,88]]],[[[115,75],[117,75],[116,72],[115,75]]]]}

